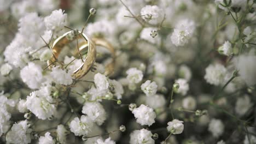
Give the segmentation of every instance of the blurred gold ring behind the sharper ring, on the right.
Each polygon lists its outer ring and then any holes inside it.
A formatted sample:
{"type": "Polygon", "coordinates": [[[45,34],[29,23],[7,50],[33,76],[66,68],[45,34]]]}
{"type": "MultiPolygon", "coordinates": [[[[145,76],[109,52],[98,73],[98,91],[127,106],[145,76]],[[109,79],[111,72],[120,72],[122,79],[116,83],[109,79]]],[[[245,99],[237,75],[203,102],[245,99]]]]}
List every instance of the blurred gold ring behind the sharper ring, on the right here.
{"type": "MultiPolygon", "coordinates": [[[[103,39],[103,38],[92,38],[91,40],[94,42],[96,46],[105,47],[108,51],[110,51],[112,55],[112,61],[106,65],[104,75],[109,76],[113,74],[114,66],[115,66],[115,57],[116,57],[114,47],[106,39],[103,39]]],[[[86,48],[86,46],[84,45],[86,45],[86,43],[80,44],[79,51],[82,51],[86,48]]]]}

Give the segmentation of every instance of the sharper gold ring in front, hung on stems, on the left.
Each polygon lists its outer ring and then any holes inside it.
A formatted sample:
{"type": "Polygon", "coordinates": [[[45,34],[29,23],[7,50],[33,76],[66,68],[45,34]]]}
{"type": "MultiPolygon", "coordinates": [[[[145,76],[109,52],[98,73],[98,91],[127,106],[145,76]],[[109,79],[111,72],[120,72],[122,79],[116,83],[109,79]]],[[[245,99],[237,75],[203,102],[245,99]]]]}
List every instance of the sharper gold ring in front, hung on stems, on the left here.
{"type": "Polygon", "coordinates": [[[54,64],[57,60],[57,58],[60,55],[61,50],[63,49],[63,47],[69,43],[71,43],[73,40],[75,39],[84,39],[84,45],[80,46],[80,47],[88,47],[88,53],[86,58],[84,59],[84,62],[82,65],[80,65],[79,68],[77,68],[76,70],[73,71],[72,76],[75,77],[75,79],[80,79],[81,77],[83,77],[85,74],[87,74],[89,72],[89,70],[91,69],[92,65],[95,62],[96,59],[96,49],[95,49],[95,44],[84,34],[84,33],[80,33],[78,35],[75,35],[75,37],[73,39],[67,39],[67,35],[73,33],[73,31],[69,31],[63,35],[61,35],[61,37],[57,38],[54,43],[53,43],[53,56],[51,57],[50,60],[48,60],[48,65],[50,65],[50,69],[52,68],[51,64],[54,64]]]}

